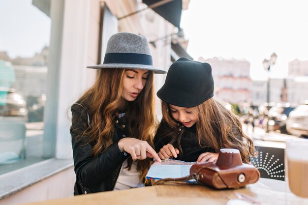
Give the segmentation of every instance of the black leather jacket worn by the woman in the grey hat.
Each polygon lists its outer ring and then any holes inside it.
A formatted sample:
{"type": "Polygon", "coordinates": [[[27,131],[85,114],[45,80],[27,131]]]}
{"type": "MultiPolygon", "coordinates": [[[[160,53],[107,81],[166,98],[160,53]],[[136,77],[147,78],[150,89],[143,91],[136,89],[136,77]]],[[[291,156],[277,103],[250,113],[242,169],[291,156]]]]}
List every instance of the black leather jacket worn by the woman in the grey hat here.
{"type": "Polygon", "coordinates": [[[79,135],[91,125],[91,113],[86,105],[75,103],[71,107],[72,147],[76,183],[74,195],[87,194],[114,189],[123,162],[130,156],[122,152],[118,141],[126,137],[126,125],[119,118],[115,118],[113,144],[97,157],[91,155],[92,144],[86,143],[86,136],[79,135]]]}

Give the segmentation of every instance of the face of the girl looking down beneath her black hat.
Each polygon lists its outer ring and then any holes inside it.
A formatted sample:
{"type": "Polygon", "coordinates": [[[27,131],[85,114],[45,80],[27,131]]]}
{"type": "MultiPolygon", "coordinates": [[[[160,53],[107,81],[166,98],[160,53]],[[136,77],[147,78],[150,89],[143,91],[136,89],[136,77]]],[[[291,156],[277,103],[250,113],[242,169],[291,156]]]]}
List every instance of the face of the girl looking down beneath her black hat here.
{"type": "Polygon", "coordinates": [[[182,108],[169,104],[172,117],[185,127],[191,127],[198,121],[198,117],[191,112],[191,108],[182,108]]]}

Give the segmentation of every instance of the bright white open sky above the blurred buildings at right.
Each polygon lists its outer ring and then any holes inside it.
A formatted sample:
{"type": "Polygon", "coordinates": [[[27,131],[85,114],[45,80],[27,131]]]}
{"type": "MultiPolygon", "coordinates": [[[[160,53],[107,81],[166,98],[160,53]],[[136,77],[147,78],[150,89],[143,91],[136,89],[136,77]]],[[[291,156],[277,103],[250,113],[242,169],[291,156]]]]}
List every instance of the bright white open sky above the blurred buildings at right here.
{"type": "Polygon", "coordinates": [[[287,76],[288,62],[308,60],[307,0],[190,0],[181,28],[195,60],[246,59],[253,80],[266,80],[263,59],[277,54],[270,77],[287,76]]]}

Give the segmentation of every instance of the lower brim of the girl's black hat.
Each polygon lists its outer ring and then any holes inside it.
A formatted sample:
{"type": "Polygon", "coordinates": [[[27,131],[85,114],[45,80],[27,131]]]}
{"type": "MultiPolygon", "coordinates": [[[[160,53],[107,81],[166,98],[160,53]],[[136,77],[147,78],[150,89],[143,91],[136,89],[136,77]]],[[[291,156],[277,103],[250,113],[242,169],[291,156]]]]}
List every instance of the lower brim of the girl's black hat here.
{"type": "Polygon", "coordinates": [[[182,108],[196,107],[214,96],[213,94],[203,96],[200,93],[185,92],[165,86],[161,87],[156,94],[162,101],[182,108]]]}

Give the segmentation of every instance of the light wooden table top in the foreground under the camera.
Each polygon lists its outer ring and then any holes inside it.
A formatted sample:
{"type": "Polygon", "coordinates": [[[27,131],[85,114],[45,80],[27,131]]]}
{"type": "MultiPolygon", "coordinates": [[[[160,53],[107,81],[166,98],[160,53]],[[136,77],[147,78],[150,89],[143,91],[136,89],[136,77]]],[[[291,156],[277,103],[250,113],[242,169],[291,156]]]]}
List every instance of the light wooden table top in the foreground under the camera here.
{"type": "Polygon", "coordinates": [[[237,198],[236,193],[245,194],[260,205],[308,205],[308,199],[271,190],[261,182],[232,190],[201,185],[157,185],[27,205],[226,205],[228,200],[237,198]]]}

